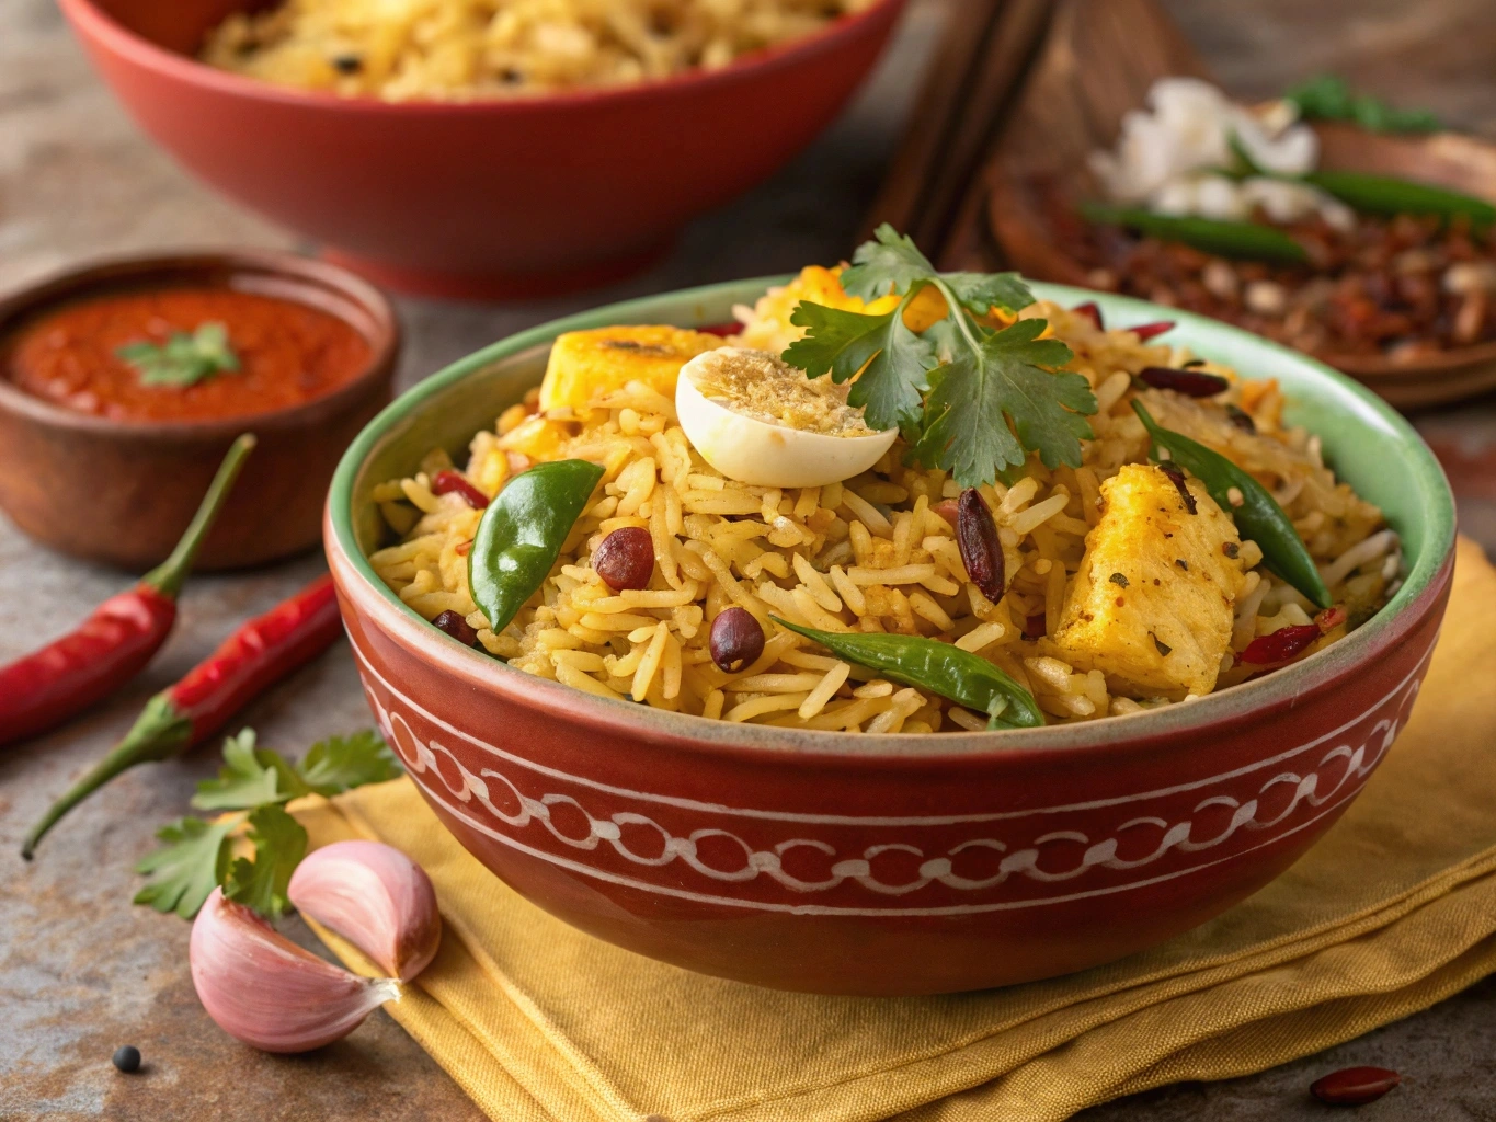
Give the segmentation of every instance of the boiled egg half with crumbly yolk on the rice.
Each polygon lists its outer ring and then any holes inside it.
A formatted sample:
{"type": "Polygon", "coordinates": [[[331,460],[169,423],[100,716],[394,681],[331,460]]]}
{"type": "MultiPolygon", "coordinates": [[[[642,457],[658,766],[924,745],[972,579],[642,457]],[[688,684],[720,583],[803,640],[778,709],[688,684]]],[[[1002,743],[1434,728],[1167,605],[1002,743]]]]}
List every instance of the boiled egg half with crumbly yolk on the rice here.
{"type": "Polygon", "coordinates": [[[767,350],[720,347],[681,367],[675,411],[702,459],[739,483],[817,488],[871,468],[898,429],[868,428],[847,387],[767,350]]]}

